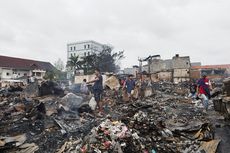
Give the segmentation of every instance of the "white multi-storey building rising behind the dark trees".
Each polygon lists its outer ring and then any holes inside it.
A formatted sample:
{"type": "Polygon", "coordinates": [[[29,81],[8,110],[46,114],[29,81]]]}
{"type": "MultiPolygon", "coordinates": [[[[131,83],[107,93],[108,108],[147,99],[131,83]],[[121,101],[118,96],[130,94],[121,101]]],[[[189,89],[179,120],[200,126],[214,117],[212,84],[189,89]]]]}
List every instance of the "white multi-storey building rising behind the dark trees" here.
{"type": "Polygon", "coordinates": [[[81,59],[81,57],[91,55],[92,53],[97,54],[104,49],[104,46],[106,45],[93,40],[69,43],[67,44],[67,60],[71,56],[79,56],[81,59]]]}

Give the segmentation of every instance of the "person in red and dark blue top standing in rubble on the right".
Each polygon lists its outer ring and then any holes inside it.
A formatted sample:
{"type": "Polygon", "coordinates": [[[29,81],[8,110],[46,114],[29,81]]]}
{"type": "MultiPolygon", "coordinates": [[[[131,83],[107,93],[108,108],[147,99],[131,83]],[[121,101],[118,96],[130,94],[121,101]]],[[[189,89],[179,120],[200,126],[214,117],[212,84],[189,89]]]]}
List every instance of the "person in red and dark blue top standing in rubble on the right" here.
{"type": "Polygon", "coordinates": [[[211,89],[211,83],[209,79],[207,78],[206,73],[202,73],[202,78],[198,80],[198,96],[202,99],[203,105],[204,105],[204,112],[208,110],[208,101],[210,98],[210,89],[211,89]]]}

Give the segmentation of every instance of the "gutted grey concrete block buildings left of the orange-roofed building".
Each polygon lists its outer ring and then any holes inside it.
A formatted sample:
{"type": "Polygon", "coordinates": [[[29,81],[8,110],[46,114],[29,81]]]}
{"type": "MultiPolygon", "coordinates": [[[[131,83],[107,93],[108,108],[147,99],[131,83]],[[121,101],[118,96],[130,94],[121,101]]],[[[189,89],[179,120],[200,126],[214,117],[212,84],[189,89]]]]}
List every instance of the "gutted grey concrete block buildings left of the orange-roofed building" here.
{"type": "Polygon", "coordinates": [[[126,74],[142,73],[151,75],[152,81],[173,81],[175,83],[190,80],[190,57],[176,54],[172,59],[161,59],[153,55],[139,59],[139,67],[124,69],[126,74]],[[143,62],[147,64],[143,65],[143,62]],[[129,70],[129,71],[127,71],[129,70]]]}

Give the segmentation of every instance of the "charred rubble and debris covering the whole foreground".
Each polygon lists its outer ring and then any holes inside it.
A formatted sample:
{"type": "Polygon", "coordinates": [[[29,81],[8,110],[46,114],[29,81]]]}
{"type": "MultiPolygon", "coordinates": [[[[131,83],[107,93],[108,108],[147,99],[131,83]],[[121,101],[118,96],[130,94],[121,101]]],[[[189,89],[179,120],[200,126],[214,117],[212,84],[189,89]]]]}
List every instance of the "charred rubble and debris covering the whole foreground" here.
{"type": "Polygon", "coordinates": [[[53,83],[2,94],[0,152],[214,153],[222,145],[221,115],[196,107],[187,83],[153,83],[145,87],[151,94],[132,102],[122,102],[115,85],[105,91],[103,117],[93,113],[92,96],[53,83]]]}

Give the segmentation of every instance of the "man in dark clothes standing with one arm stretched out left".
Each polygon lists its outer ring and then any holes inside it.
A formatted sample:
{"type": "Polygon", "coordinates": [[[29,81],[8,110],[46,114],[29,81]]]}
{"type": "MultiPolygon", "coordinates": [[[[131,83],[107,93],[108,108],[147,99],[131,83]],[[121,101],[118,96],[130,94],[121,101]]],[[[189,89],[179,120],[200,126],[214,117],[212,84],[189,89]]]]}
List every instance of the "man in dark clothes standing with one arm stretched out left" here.
{"type": "Polygon", "coordinates": [[[99,113],[102,113],[103,78],[102,78],[102,75],[99,69],[95,69],[95,75],[96,75],[95,79],[87,82],[87,84],[94,83],[93,85],[94,98],[95,98],[95,101],[97,102],[99,113]]]}

